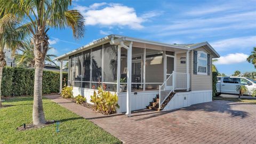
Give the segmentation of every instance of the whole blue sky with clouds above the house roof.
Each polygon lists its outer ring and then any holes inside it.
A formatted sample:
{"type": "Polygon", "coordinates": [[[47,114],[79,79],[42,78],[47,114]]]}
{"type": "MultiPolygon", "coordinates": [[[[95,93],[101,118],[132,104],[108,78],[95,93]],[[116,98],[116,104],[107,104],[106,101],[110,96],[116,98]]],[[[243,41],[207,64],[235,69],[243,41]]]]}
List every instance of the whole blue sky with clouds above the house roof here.
{"type": "Polygon", "coordinates": [[[82,39],[70,29],[49,31],[49,53],[62,55],[109,34],[164,43],[209,42],[220,73],[256,71],[246,61],[256,46],[256,1],[73,1],[85,17],[82,39]]]}

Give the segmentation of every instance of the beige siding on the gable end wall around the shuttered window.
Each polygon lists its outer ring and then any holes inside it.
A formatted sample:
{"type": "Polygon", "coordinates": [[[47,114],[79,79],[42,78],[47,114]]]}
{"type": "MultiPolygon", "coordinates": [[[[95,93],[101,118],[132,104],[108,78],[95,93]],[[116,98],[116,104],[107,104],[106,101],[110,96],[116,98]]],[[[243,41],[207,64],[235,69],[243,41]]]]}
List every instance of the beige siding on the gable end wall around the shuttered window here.
{"type": "MultiPolygon", "coordinates": [[[[196,51],[204,51],[206,53],[210,53],[205,50],[204,47],[199,47],[195,49],[196,51]]],[[[191,64],[193,66],[194,63],[194,51],[191,53],[191,64]]],[[[210,75],[194,75],[194,67],[191,68],[191,90],[212,90],[212,72],[210,75]]],[[[210,71],[212,71],[212,55],[210,55],[210,71]]]]}

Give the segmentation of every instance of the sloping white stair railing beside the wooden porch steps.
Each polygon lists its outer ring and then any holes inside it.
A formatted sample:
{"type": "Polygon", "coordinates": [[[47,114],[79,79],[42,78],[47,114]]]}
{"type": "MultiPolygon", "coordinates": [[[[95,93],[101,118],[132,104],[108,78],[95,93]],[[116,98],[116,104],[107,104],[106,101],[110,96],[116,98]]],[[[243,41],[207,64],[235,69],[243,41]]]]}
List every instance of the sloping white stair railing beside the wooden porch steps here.
{"type": "Polygon", "coordinates": [[[172,74],[164,81],[162,85],[159,85],[159,109],[163,102],[169,97],[169,95],[174,91],[175,87],[175,74],[172,74]]]}

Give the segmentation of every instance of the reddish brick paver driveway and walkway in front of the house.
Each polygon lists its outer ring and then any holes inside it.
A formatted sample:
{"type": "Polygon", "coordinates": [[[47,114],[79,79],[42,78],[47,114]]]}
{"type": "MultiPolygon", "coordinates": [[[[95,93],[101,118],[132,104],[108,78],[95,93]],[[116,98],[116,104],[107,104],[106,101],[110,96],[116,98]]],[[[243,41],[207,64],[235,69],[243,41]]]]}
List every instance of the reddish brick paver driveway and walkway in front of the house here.
{"type": "Polygon", "coordinates": [[[89,119],[124,143],[256,143],[256,105],[213,101],[173,111],[104,116],[50,95],[47,98],[89,119]]]}

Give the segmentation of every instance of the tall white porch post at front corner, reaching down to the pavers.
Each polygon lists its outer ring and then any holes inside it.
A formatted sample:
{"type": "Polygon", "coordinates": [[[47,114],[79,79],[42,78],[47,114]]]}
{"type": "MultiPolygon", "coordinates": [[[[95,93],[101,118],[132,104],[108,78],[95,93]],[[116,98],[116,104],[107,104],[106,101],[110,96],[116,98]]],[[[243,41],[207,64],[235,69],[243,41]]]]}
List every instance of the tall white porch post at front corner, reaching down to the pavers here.
{"type": "Polygon", "coordinates": [[[131,90],[132,89],[132,42],[127,49],[127,96],[126,96],[126,114],[131,116],[131,90]]]}

